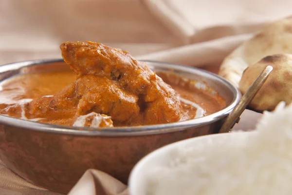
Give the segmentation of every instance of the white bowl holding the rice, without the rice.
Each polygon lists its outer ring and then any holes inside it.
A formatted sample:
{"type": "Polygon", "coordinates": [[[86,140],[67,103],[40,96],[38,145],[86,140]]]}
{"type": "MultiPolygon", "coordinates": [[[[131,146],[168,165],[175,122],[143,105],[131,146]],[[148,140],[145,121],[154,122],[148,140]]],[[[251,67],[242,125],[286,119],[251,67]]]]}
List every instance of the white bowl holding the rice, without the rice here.
{"type": "Polygon", "coordinates": [[[238,139],[238,141],[244,141],[253,132],[237,132],[226,134],[214,134],[208,136],[194,137],[178,141],[169,145],[166,145],[149,155],[142,158],[132,169],[128,181],[129,194],[130,195],[147,195],[147,173],[157,166],[164,166],[169,163],[171,154],[180,147],[190,147],[194,145],[200,145],[203,148],[206,144],[220,144],[226,143],[231,139],[238,139]]]}

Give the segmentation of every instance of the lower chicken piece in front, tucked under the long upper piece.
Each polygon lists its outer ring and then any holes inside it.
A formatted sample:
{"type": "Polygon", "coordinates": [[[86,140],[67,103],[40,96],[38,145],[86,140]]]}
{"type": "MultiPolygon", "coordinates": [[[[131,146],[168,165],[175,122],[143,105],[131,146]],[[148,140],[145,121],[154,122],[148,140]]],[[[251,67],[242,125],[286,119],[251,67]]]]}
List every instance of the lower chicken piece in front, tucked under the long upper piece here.
{"type": "Polygon", "coordinates": [[[53,115],[61,112],[64,117],[96,112],[128,124],[132,117],[139,114],[137,101],[137,96],[124,92],[108,78],[85,75],[54,97],[33,100],[28,112],[34,117],[45,117],[50,112],[53,115]]]}

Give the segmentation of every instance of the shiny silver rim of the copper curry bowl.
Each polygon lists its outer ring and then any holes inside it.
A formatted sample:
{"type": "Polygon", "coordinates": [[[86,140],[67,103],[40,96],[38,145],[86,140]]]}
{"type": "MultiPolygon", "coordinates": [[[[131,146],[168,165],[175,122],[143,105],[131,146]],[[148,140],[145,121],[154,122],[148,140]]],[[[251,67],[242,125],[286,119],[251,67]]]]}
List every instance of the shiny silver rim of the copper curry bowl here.
{"type": "MultiPolygon", "coordinates": [[[[194,118],[186,121],[179,121],[167,124],[158,125],[145,125],[145,126],[132,126],[132,127],[110,127],[110,128],[91,128],[91,127],[73,127],[73,126],[62,126],[55,124],[39,123],[29,120],[24,120],[20,118],[9,117],[5,115],[0,115],[0,124],[10,125],[14,127],[34,130],[38,132],[48,132],[48,133],[59,133],[59,134],[69,134],[78,136],[104,136],[104,137],[118,137],[118,136],[146,136],[155,135],[162,133],[170,133],[176,131],[183,131],[184,129],[190,127],[200,127],[202,125],[210,124],[212,122],[218,121],[226,117],[236,106],[237,102],[241,98],[241,93],[239,90],[228,80],[222,78],[214,73],[181,64],[153,61],[153,60],[140,60],[150,63],[158,63],[167,65],[167,67],[173,67],[174,69],[180,69],[184,71],[199,72],[202,75],[207,75],[212,79],[218,80],[223,83],[233,94],[233,100],[224,109],[200,118],[194,118]]],[[[49,64],[56,62],[64,62],[63,59],[36,59],[29,61],[20,61],[9,64],[4,64],[0,66],[0,74],[6,71],[18,70],[26,66],[34,66],[38,64],[49,64]]]]}

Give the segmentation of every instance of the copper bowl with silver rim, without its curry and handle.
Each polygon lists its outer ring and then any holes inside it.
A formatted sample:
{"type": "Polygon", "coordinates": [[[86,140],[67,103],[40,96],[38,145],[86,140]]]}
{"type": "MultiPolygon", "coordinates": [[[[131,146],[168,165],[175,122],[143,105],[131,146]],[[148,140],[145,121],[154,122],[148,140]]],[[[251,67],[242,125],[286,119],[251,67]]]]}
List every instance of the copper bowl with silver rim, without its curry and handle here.
{"type": "MultiPolygon", "coordinates": [[[[0,115],[0,159],[27,181],[59,193],[68,193],[87,169],[101,170],[127,183],[133,166],[150,152],[179,140],[218,133],[241,97],[231,83],[207,71],[162,62],[147,64],[157,72],[176,73],[212,87],[227,107],[183,122],[107,129],[49,125],[0,115]]],[[[17,62],[0,66],[0,80],[66,69],[69,66],[62,59],[17,62]]]]}

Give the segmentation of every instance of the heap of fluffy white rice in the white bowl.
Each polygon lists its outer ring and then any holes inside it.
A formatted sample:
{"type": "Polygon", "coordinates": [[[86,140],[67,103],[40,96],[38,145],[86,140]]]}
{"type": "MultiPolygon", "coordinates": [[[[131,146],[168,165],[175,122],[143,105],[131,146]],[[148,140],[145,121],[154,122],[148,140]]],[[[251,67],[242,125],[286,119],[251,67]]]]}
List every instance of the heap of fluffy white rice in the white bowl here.
{"type": "Polygon", "coordinates": [[[147,195],[292,195],[292,104],[265,112],[256,130],[179,148],[148,172],[147,195]]]}

